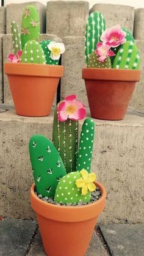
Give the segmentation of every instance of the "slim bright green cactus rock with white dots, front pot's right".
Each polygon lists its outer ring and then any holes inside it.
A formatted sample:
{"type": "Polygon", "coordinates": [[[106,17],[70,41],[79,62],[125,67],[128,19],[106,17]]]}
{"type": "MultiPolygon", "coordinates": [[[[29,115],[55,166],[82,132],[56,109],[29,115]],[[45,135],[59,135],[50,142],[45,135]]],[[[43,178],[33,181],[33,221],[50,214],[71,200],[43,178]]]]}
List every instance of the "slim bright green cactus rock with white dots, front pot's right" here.
{"type": "Polygon", "coordinates": [[[77,170],[85,169],[90,173],[93,153],[93,139],[95,135],[95,124],[92,119],[84,120],[79,141],[79,152],[77,156],[77,170]]]}

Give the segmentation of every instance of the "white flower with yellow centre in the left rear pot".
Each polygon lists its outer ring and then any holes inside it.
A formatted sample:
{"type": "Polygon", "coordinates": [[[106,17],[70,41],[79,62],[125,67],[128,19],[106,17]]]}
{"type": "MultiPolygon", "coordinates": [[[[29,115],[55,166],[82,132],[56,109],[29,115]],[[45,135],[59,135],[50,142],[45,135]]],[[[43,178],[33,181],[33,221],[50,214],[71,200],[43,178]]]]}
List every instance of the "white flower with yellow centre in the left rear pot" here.
{"type": "Polygon", "coordinates": [[[58,60],[60,58],[60,54],[64,53],[65,45],[63,43],[56,43],[51,41],[49,45],[47,45],[49,51],[51,51],[51,59],[58,60]]]}

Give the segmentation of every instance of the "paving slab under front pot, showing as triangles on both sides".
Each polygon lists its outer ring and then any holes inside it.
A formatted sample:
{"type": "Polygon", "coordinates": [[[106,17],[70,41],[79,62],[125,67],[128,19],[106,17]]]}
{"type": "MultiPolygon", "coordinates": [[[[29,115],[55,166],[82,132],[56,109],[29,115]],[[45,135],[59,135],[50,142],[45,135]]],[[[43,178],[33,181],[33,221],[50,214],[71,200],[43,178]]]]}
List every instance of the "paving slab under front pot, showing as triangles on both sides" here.
{"type": "MultiPolygon", "coordinates": [[[[104,248],[103,244],[101,243],[101,240],[99,240],[98,235],[96,235],[96,233],[94,232],[92,240],[90,242],[90,246],[88,247],[88,251],[85,256],[107,256],[107,255],[109,254],[107,254],[107,251],[104,248]]],[[[39,232],[35,235],[35,238],[31,244],[31,249],[28,252],[27,256],[46,256],[43,250],[43,245],[41,243],[41,237],[39,232]]],[[[62,256],[68,256],[68,255],[62,255],[62,256]]]]}

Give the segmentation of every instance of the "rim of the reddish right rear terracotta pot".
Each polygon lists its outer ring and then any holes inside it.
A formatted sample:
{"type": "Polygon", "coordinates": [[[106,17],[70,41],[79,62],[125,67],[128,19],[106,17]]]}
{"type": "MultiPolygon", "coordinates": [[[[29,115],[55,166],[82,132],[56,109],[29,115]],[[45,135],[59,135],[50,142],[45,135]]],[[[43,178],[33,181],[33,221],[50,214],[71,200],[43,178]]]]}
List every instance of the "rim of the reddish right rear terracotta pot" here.
{"type": "Polygon", "coordinates": [[[82,78],[107,81],[140,81],[141,70],[118,68],[82,68],[82,78]]]}

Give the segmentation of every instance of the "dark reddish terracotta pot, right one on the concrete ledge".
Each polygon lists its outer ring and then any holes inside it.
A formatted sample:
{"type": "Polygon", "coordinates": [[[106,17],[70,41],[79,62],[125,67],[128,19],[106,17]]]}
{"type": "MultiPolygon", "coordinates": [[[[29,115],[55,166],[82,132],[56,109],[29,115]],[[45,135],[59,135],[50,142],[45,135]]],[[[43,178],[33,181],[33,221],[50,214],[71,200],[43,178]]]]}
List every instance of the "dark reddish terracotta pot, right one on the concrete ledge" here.
{"type": "Polygon", "coordinates": [[[140,72],[115,68],[83,68],[82,78],[85,79],[92,117],[104,120],[123,119],[135,82],[140,80],[140,72]]]}

